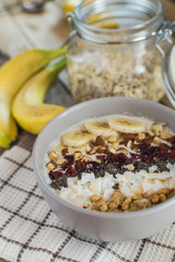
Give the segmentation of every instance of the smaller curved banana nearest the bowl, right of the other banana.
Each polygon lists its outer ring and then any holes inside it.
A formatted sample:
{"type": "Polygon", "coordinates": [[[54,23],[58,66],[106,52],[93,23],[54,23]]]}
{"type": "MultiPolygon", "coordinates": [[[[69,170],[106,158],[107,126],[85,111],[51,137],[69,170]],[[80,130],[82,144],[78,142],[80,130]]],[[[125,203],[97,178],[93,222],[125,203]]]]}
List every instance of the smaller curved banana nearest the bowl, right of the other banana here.
{"type": "Polygon", "coordinates": [[[30,79],[15,96],[12,114],[18,123],[26,131],[37,134],[44,126],[65,107],[44,104],[43,100],[58,72],[66,66],[66,58],[49,66],[30,79]]]}

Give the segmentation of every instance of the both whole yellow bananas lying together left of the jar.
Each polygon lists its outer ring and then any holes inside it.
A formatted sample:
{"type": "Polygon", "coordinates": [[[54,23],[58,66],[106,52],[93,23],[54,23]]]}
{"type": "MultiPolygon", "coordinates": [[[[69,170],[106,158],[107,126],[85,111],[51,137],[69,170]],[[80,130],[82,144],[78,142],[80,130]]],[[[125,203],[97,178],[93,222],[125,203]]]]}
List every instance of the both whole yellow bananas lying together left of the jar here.
{"type": "Polygon", "coordinates": [[[50,84],[56,80],[58,72],[65,67],[66,60],[61,60],[54,67],[49,67],[47,69],[44,68],[55,58],[65,56],[66,50],[67,46],[54,50],[26,50],[0,68],[1,147],[8,148],[10,146],[10,143],[18,138],[18,126],[14,118],[25,130],[33,133],[38,133],[44,124],[48,121],[48,119],[50,120],[51,117],[56,115],[56,112],[58,114],[65,109],[57,106],[58,108],[56,110],[52,109],[50,105],[39,106],[39,104],[42,104],[48,86],[50,86],[50,84]],[[32,78],[33,75],[35,76],[32,78]],[[25,92],[19,93],[23,86],[25,87],[25,92]],[[16,96],[18,93],[19,95],[16,96]],[[12,106],[13,102],[15,102],[14,106],[12,106]],[[37,105],[37,110],[36,107],[34,110],[34,105],[37,105]],[[49,110],[47,110],[46,107],[49,108],[49,110]],[[38,119],[40,111],[43,110],[47,111],[47,117],[40,120],[40,122],[43,121],[43,123],[40,123],[38,119]],[[12,111],[14,117],[12,116],[12,111]],[[25,119],[27,121],[22,120],[24,111],[25,119]],[[51,116],[49,118],[48,115],[50,111],[51,116]],[[34,115],[35,119],[37,115],[37,122],[33,121],[34,115]]]}

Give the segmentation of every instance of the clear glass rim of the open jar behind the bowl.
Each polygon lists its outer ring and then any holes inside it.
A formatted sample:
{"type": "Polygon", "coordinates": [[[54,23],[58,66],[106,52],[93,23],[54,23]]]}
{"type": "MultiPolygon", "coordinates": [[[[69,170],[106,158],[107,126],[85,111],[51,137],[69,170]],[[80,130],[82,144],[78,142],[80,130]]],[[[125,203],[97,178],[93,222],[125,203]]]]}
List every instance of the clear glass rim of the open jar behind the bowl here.
{"type": "MultiPolygon", "coordinates": [[[[156,35],[162,22],[163,22],[163,12],[162,12],[162,3],[159,0],[151,0],[150,3],[156,4],[156,11],[153,11],[154,14],[148,21],[142,23],[127,26],[125,28],[100,28],[95,27],[91,24],[88,24],[83,21],[83,15],[85,11],[94,10],[96,4],[102,4],[106,2],[105,0],[84,0],[82,1],[75,9],[74,9],[74,27],[77,34],[86,40],[95,41],[100,44],[127,44],[127,43],[135,43],[144,40],[151,36],[156,35]],[[112,37],[113,36],[113,37],[112,37]],[[119,36],[119,37],[118,37],[119,36]],[[112,40],[109,39],[112,37],[112,40]],[[107,38],[107,40],[106,40],[107,38]]],[[[107,0],[109,3],[130,3],[130,4],[139,4],[140,7],[144,8],[145,2],[149,3],[148,0],[126,0],[126,1],[118,1],[118,0],[107,0]]],[[[96,9],[97,10],[97,9],[96,9]]]]}

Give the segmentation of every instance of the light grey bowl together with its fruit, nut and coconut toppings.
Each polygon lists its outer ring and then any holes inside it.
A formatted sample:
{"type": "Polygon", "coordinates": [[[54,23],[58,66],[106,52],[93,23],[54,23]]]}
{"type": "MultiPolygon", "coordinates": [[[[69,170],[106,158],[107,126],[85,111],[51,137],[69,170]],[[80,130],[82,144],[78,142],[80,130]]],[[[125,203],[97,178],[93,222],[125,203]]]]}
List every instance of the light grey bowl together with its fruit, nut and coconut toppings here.
{"type": "Polygon", "coordinates": [[[98,98],[55,117],[33,167],[50,209],[88,237],[149,237],[175,221],[175,112],[149,100],[98,98]]]}

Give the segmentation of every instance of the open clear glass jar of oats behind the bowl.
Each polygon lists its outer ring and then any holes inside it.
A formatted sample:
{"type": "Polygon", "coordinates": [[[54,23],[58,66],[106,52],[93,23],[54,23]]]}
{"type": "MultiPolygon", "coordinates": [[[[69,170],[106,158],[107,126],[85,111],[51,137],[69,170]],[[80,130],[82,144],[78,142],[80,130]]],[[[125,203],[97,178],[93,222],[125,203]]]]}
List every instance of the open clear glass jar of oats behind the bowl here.
{"type": "Polygon", "coordinates": [[[159,0],[85,0],[69,22],[74,36],[68,73],[77,102],[107,96],[159,102],[164,96],[162,55],[155,47],[163,25],[159,0]]]}

